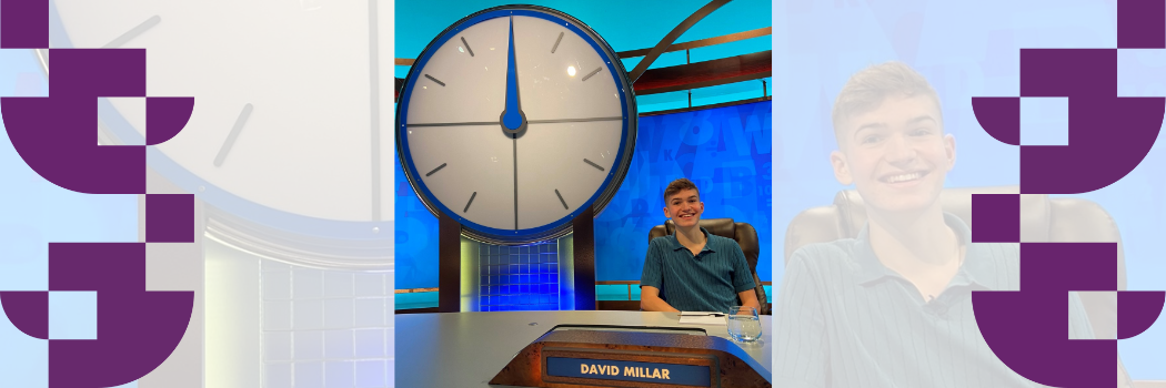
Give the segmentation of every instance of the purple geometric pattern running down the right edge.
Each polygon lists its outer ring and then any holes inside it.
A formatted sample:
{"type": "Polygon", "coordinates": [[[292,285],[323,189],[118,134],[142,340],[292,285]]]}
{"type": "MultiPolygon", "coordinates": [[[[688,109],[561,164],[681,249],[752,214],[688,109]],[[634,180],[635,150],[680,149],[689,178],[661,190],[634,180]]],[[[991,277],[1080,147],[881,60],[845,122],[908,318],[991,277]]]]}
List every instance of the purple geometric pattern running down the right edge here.
{"type": "MultiPolygon", "coordinates": [[[[1119,0],[1118,47],[1166,48],[1166,5],[1119,0]]],[[[1020,96],[1068,98],[1068,146],[1019,146],[1020,97],[971,103],[985,132],[1020,147],[1021,193],[1081,193],[1117,182],[1150,151],[1166,113],[1166,98],[1117,97],[1117,49],[1021,49],[1020,96]]],[[[1014,197],[972,197],[975,241],[1020,242],[1014,197]]],[[[1117,290],[1114,242],[1021,242],[1020,258],[1019,291],[972,292],[989,347],[1044,385],[1114,386],[1117,340],[1070,340],[1068,292],[1117,291],[1118,339],[1153,325],[1166,292],[1117,290]]]]}

